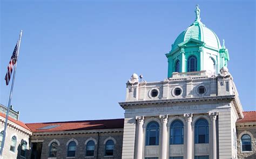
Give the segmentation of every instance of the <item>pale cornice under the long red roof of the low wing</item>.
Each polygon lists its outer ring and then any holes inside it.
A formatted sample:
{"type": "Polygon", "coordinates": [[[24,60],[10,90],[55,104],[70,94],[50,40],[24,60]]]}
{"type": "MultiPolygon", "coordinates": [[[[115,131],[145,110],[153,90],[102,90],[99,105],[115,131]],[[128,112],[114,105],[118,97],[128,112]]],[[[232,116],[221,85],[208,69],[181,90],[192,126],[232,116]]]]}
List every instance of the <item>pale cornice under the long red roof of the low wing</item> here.
{"type": "Polygon", "coordinates": [[[33,133],[32,136],[54,136],[54,135],[78,135],[78,134],[96,134],[96,133],[122,133],[123,128],[119,129],[98,129],[89,131],[59,131],[59,132],[42,132],[33,133]]]}

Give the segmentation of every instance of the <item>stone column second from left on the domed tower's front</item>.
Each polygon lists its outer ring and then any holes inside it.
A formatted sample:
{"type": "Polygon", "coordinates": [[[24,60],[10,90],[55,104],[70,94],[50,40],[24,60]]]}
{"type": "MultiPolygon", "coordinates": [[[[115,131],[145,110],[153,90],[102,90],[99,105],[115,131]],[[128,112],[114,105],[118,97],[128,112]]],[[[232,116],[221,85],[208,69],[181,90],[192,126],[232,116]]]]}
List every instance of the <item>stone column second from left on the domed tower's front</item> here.
{"type": "Polygon", "coordinates": [[[162,126],[162,146],[161,146],[161,158],[166,159],[167,158],[167,121],[168,121],[168,115],[159,115],[159,118],[161,119],[161,122],[163,124],[162,126]]]}

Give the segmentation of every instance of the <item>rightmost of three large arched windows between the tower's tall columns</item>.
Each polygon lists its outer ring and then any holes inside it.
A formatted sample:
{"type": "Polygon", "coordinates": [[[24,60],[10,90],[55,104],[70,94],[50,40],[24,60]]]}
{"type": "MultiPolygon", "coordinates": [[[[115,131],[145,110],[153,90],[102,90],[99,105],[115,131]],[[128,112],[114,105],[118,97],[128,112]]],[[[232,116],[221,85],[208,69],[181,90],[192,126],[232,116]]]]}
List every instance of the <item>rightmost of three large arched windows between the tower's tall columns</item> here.
{"type": "Polygon", "coordinates": [[[195,143],[209,143],[209,126],[208,121],[199,119],[195,125],[195,143]]]}

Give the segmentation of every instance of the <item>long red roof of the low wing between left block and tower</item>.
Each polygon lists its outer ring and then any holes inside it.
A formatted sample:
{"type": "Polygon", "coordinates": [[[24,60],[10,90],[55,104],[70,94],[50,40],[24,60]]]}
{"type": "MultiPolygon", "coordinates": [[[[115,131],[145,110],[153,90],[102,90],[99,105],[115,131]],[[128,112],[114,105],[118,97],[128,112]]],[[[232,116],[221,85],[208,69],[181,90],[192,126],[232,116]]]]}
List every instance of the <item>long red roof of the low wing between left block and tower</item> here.
{"type": "Polygon", "coordinates": [[[124,119],[60,121],[26,124],[33,133],[124,128],[124,119]],[[46,126],[56,126],[42,129],[46,126]]]}

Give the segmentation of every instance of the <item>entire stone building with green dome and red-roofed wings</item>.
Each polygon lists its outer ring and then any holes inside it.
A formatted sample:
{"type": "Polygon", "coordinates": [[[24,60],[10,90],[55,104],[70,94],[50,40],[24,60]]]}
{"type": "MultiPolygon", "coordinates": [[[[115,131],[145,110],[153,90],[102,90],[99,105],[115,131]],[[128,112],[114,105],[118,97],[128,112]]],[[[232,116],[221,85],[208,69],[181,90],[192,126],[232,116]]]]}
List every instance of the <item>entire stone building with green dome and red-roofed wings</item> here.
{"type": "Polygon", "coordinates": [[[256,158],[256,112],[243,111],[224,41],[201,22],[198,6],[195,13],[166,54],[167,78],[139,82],[133,74],[126,83],[124,119],[23,124],[12,117],[4,158],[256,158]]]}

